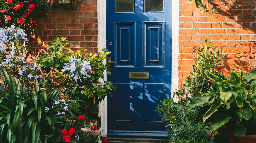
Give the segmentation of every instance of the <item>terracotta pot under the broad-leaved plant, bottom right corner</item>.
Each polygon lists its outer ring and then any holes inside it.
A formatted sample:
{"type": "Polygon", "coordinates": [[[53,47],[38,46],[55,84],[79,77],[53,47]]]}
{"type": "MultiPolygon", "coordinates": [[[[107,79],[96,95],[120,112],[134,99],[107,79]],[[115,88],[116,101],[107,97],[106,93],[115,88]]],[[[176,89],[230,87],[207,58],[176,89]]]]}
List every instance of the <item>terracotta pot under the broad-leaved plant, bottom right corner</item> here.
{"type": "Polygon", "coordinates": [[[256,135],[244,135],[243,137],[235,137],[234,132],[228,134],[229,143],[256,143],[256,135]]]}

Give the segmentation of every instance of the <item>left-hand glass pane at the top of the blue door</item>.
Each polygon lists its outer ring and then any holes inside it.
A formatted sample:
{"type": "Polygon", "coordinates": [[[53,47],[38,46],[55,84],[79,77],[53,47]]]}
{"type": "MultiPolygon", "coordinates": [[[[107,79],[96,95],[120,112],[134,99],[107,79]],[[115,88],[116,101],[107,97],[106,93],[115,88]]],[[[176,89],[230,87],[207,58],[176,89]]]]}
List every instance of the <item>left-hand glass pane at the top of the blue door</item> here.
{"type": "Polygon", "coordinates": [[[134,0],[115,0],[115,13],[133,13],[134,0]]]}

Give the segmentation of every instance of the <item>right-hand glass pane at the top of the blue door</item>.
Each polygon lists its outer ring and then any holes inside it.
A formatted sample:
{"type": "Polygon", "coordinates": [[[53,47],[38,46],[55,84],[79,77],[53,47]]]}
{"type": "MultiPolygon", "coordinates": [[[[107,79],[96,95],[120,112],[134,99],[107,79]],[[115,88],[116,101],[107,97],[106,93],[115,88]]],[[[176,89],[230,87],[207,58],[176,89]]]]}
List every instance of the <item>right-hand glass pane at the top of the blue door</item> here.
{"type": "Polygon", "coordinates": [[[145,12],[163,12],[163,0],[145,0],[145,12]]]}

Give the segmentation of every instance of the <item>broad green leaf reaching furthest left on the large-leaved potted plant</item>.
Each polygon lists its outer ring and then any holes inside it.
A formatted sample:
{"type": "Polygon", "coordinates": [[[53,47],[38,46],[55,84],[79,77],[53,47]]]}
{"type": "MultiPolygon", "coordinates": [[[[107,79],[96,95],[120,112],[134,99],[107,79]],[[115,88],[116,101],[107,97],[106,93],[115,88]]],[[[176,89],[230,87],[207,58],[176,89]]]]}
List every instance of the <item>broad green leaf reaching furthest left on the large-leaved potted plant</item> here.
{"type": "Polygon", "coordinates": [[[203,106],[204,104],[211,104],[213,103],[214,98],[211,98],[210,96],[200,96],[196,99],[194,99],[192,102],[188,103],[186,109],[191,109],[197,106],[203,106]]]}

